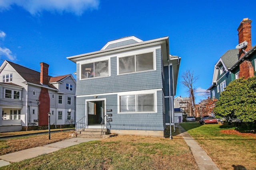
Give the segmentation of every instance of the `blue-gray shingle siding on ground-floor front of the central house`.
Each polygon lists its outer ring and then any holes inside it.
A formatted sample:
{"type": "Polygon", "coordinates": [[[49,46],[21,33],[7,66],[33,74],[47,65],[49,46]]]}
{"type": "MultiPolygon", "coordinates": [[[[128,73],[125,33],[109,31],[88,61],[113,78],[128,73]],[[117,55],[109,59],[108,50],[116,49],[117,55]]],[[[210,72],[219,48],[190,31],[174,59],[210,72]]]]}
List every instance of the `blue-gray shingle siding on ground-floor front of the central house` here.
{"type": "MultiPolygon", "coordinates": [[[[117,94],[98,96],[97,99],[106,98],[106,109],[112,109],[111,128],[118,130],[164,130],[163,109],[162,109],[162,91],[157,92],[157,110],[158,113],[120,113],[118,114],[118,96],[117,94]]],[[[90,97],[77,98],[77,120],[85,115],[85,100],[94,99],[90,97]]]]}

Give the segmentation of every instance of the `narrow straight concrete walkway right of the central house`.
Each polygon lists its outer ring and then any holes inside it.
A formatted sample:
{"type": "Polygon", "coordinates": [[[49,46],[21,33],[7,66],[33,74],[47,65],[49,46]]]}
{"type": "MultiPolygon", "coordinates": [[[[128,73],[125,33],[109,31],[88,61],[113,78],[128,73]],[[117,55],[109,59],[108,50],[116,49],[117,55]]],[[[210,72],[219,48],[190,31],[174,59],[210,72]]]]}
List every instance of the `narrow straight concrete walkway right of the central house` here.
{"type": "Polygon", "coordinates": [[[198,145],[198,143],[186,132],[179,124],[180,134],[186,141],[192,154],[196,160],[196,164],[200,170],[219,170],[216,164],[212,161],[212,158],[198,145]]]}

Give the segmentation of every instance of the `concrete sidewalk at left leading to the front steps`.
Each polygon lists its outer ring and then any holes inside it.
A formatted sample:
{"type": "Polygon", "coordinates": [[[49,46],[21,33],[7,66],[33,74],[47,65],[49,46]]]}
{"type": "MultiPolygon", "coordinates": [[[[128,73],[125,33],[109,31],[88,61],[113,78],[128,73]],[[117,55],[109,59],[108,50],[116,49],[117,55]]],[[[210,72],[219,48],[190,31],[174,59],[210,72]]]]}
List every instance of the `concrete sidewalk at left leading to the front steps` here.
{"type": "Polygon", "coordinates": [[[77,145],[79,143],[96,141],[96,140],[100,140],[100,139],[76,137],[76,138],[70,138],[64,141],[59,141],[56,143],[51,143],[43,147],[35,147],[35,148],[21,150],[21,151],[10,153],[10,154],[5,154],[0,156],[0,167],[8,165],[10,164],[10,162],[19,162],[25,159],[34,158],[41,154],[48,154],[56,150],[77,145]]]}

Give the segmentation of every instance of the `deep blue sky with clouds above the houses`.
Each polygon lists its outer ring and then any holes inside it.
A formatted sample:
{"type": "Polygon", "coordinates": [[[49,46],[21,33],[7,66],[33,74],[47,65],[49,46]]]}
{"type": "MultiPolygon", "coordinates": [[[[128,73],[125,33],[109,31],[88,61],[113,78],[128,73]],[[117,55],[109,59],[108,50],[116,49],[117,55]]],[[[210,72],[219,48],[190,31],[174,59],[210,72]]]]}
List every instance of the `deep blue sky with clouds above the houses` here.
{"type": "MultiPolygon", "coordinates": [[[[181,57],[185,70],[198,75],[196,102],[212,83],[214,64],[238,44],[237,28],[252,20],[254,0],[0,0],[0,63],[3,60],[50,76],[72,74],[73,55],[100,50],[108,41],[134,35],[144,41],[169,37],[170,54],[181,57]]],[[[176,96],[186,97],[178,78],[176,96]]],[[[74,75],[76,78],[76,76],[74,75]]]]}

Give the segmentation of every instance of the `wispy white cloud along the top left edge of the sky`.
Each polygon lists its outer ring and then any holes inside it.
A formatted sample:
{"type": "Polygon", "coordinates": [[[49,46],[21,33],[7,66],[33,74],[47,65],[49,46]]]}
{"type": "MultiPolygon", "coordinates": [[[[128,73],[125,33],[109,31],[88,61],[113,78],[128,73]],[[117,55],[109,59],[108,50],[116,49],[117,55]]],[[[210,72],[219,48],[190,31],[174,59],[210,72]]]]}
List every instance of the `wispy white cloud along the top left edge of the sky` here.
{"type": "Polygon", "coordinates": [[[78,16],[85,10],[98,9],[100,0],[0,0],[0,10],[8,10],[12,5],[22,6],[32,15],[42,11],[70,12],[78,16]]]}

